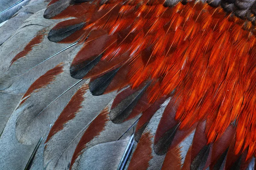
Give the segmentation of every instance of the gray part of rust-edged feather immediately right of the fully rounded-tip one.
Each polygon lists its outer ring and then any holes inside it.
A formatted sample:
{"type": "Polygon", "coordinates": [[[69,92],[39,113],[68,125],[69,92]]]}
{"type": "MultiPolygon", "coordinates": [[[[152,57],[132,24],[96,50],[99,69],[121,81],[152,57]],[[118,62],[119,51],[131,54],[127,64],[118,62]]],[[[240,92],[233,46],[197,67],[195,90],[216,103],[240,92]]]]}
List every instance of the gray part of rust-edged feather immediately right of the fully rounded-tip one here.
{"type": "Polygon", "coordinates": [[[81,139],[81,133],[93,118],[102,111],[111,99],[116,95],[115,92],[102,96],[93,96],[90,91],[84,94],[82,108],[76,116],[68,121],[62,130],[55,133],[44,150],[44,166],[47,170],[67,168],[76,145],[81,139]],[[99,103],[99,101],[101,101],[99,103]],[[61,139],[61,143],[58,141],[61,139]]]}

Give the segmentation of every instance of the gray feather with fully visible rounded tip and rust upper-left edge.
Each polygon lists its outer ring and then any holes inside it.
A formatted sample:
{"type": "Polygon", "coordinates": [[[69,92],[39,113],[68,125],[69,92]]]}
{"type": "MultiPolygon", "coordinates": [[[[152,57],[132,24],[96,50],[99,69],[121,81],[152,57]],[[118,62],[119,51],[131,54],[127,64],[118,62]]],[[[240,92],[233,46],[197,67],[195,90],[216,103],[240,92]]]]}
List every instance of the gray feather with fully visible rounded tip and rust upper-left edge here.
{"type": "Polygon", "coordinates": [[[57,65],[47,71],[23,95],[20,106],[17,108],[20,116],[16,124],[17,139],[21,143],[33,143],[36,138],[44,135],[45,129],[49,128],[51,122],[55,122],[61,110],[70,100],[70,95],[74,93],[73,89],[70,90],[70,87],[73,87],[77,80],[70,79],[67,69],[66,72],[63,72],[65,70],[64,67],[64,65],[57,65]],[[65,80],[65,82],[61,80],[65,80]],[[56,90],[55,87],[60,86],[60,81],[64,84],[56,90]],[[63,94],[67,90],[70,91],[67,94],[63,94]],[[43,94],[47,94],[47,96],[44,98],[43,94]],[[61,99],[58,99],[60,96],[61,99]],[[56,104],[52,104],[55,100],[58,100],[56,104]],[[44,105],[37,103],[42,101],[44,101],[44,105]],[[52,112],[55,114],[51,114],[52,112]]]}

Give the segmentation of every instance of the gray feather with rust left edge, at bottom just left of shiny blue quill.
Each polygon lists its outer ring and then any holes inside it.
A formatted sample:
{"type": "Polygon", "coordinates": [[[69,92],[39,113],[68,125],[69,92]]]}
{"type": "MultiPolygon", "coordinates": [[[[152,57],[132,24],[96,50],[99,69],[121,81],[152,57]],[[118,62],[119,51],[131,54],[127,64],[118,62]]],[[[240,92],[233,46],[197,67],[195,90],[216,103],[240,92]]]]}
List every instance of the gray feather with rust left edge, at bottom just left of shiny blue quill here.
{"type": "MultiPolygon", "coordinates": [[[[97,146],[100,143],[104,144],[119,140],[120,137],[123,136],[123,133],[127,133],[126,130],[134,124],[134,119],[124,122],[122,125],[111,122],[109,118],[110,104],[108,104],[108,106],[101,113],[99,113],[95,119],[93,119],[87,129],[85,129],[84,135],[81,137],[80,142],[74,152],[71,161],[71,169],[81,167],[81,159],[86,158],[83,155],[88,149],[91,147],[97,149],[97,146]],[[110,136],[109,134],[112,135],[110,136]]],[[[123,136],[121,140],[122,139],[125,139],[125,136],[123,136]]],[[[118,156],[113,156],[113,158],[116,158],[117,163],[119,163],[121,160],[118,158],[118,156]]],[[[117,166],[118,164],[113,167],[116,169],[117,166]]],[[[108,165],[108,167],[112,168],[111,165],[108,165]]]]}

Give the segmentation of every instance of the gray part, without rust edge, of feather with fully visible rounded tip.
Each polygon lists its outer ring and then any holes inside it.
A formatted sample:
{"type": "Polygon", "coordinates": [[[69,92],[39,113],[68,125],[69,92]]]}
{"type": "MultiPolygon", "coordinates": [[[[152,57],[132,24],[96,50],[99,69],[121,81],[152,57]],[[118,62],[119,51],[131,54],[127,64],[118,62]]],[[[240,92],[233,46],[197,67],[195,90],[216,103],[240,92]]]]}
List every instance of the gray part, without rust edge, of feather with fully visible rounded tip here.
{"type": "Polygon", "coordinates": [[[56,103],[47,107],[54,99],[77,82],[69,75],[69,65],[64,65],[64,72],[55,77],[54,81],[45,88],[33,92],[16,110],[20,113],[17,119],[16,135],[21,143],[31,144],[41,137],[55,122],[72,94],[72,88],[67,94],[59,98],[56,103]],[[47,107],[47,109],[45,109],[47,107]],[[44,110],[45,109],[45,110],[44,110]],[[42,112],[43,111],[43,112],[42,112]]]}

